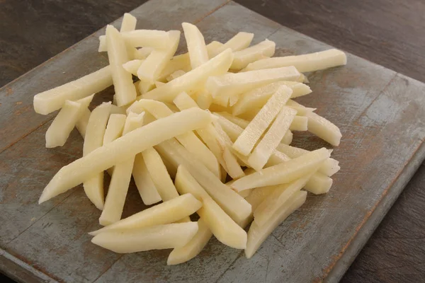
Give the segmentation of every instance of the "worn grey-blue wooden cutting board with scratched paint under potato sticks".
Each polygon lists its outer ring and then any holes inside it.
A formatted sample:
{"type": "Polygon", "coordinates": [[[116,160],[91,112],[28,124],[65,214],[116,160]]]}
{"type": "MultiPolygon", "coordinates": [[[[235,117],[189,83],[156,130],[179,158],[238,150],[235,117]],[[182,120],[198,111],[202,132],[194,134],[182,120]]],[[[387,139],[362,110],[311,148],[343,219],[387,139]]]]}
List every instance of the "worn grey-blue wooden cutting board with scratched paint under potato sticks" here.
{"type": "MultiPolygon", "coordinates": [[[[276,56],[328,45],[228,1],[151,0],[132,11],[137,28],[180,29],[196,23],[205,40],[238,31],[276,42],[276,56]],[[155,15],[155,16],[152,16],[155,15]]],[[[119,26],[120,20],[113,23],[119,26]]],[[[42,189],[82,154],[74,131],[62,148],[45,149],[54,115],[33,112],[33,95],[108,64],[99,30],[0,89],[0,270],[25,282],[311,282],[337,281],[423,161],[425,85],[348,54],[348,64],[308,75],[313,93],[297,99],[340,127],[334,149],[341,171],[327,195],[307,202],[278,226],[250,260],[212,238],[197,258],[166,266],[170,250],[119,255],[90,242],[100,212],[81,186],[37,204],[42,189]]],[[[181,47],[184,40],[181,40],[181,47]]],[[[95,103],[111,98],[111,89],[95,103]]],[[[328,146],[295,134],[306,149],[328,146]]],[[[106,180],[108,181],[108,180],[106,180]]],[[[144,206],[131,185],[124,216],[144,206]]]]}

